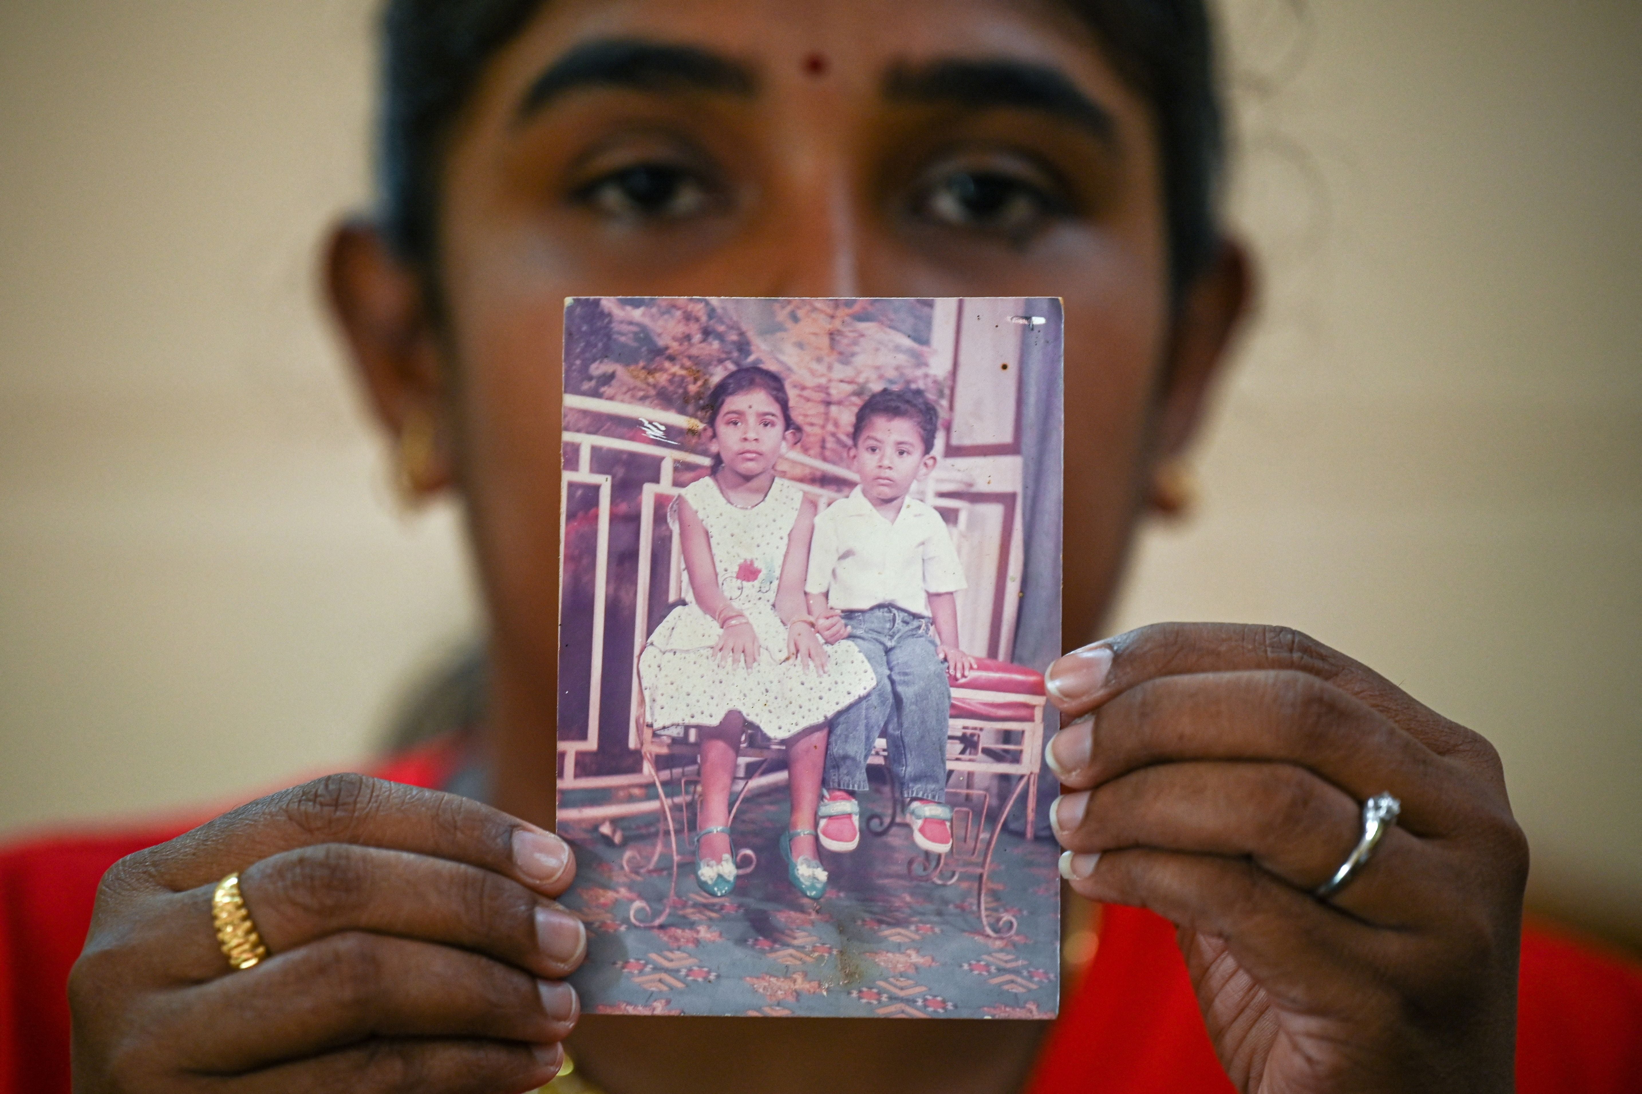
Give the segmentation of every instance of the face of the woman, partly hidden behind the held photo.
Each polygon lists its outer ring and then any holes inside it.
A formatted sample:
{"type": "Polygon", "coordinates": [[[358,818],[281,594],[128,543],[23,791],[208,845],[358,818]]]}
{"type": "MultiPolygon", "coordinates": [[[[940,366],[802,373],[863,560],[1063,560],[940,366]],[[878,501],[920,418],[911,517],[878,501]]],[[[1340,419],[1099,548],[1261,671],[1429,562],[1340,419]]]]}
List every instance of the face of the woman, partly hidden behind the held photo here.
{"type": "Polygon", "coordinates": [[[404,276],[386,259],[333,266],[384,417],[422,400],[443,425],[502,717],[553,710],[566,295],[1062,297],[1067,635],[1090,635],[1230,325],[1194,354],[1172,318],[1151,126],[1054,3],[544,5],[448,148],[443,330],[369,303],[404,276]],[[404,364],[412,343],[443,367],[404,364]]]}

